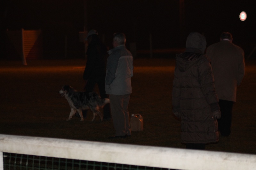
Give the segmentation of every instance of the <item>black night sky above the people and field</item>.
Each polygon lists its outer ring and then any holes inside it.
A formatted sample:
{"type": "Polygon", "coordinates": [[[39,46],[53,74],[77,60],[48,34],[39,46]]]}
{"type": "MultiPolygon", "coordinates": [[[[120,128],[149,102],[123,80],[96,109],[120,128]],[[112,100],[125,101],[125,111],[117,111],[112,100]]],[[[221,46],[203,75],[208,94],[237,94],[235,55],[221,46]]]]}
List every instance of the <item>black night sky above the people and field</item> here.
{"type": "Polygon", "coordinates": [[[78,32],[84,30],[84,25],[88,30],[96,29],[109,48],[115,32],[125,33],[127,47],[136,42],[138,49],[149,49],[150,33],[155,49],[185,47],[186,37],[193,31],[204,34],[207,46],[218,42],[224,31],[232,33],[233,42],[245,51],[250,52],[256,44],[256,2],[252,0],[184,0],[182,27],[179,0],[87,0],[86,8],[84,0],[2,3],[1,36],[7,29],[41,29],[47,54],[63,51],[65,35],[68,50],[83,51],[78,32]],[[245,21],[239,19],[241,11],[247,13],[245,21]]]}

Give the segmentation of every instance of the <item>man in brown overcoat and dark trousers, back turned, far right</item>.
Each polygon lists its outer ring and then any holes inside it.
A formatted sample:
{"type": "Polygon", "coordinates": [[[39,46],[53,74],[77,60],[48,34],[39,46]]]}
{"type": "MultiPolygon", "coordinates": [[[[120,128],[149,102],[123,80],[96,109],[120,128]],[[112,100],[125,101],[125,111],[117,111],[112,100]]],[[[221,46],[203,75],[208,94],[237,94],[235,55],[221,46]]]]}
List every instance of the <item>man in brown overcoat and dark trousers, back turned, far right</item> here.
{"type": "Polygon", "coordinates": [[[215,88],[219,97],[221,118],[218,120],[221,136],[231,133],[232,108],[236,102],[236,88],[244,78],[244,51],[232,43],[231,33],[224,32],[220,42],[210,45],[206,55],[211,60],[215,88]]]}

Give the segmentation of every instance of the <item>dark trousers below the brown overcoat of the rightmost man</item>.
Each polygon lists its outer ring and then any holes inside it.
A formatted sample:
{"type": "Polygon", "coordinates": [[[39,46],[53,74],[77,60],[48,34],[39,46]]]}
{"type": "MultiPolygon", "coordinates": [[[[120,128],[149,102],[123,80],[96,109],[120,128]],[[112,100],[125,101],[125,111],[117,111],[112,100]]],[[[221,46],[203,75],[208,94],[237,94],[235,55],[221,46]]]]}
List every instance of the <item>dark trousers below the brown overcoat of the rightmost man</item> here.
{"type": "Polygon", "coordinates": [[[221,117],[218,119],[218,127],[221,136],[229,136],[231,133],[233,101],[219,100],[221,117]]]}

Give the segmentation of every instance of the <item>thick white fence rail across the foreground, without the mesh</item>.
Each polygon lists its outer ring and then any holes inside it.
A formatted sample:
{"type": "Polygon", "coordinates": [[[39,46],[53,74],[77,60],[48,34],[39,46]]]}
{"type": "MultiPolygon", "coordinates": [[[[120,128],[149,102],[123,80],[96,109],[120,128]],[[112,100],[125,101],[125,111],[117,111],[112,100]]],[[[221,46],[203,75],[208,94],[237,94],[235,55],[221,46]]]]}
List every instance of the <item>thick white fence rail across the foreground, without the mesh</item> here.
{"type": "Polygon", "coordinates": [[[252,170],[256,155],[0,134],[3,152],[187,170],[252,170]]]}

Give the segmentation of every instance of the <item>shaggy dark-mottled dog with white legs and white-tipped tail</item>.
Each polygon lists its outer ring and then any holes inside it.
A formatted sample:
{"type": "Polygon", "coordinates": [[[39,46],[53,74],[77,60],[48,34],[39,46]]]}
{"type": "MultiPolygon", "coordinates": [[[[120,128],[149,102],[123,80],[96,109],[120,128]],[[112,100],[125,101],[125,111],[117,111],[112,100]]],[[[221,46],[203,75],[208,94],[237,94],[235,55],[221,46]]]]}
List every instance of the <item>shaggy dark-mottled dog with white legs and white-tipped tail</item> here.
{"type": "Polygon", "coordinates": [[[103,120],[103,115],[100,112],[100,107],[104,107],[109,103],[109,99],[101,99],[96,92],[78,92],[69,85],[64,85],[59,91],[62,97],[68,100],[68,104],[71,108],[71,112],[67,121],[69,121],[76,111],[79,113],[81,120],[84,121],[82,110],[91,109],[93,112],[92,121],[94,121],[97,114],[100,116],[100,120],[103,120]]]}

